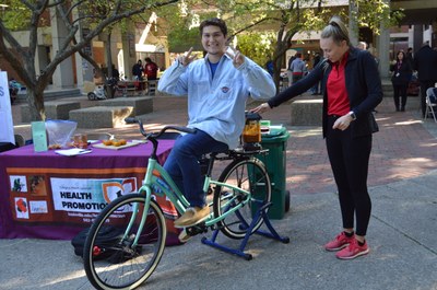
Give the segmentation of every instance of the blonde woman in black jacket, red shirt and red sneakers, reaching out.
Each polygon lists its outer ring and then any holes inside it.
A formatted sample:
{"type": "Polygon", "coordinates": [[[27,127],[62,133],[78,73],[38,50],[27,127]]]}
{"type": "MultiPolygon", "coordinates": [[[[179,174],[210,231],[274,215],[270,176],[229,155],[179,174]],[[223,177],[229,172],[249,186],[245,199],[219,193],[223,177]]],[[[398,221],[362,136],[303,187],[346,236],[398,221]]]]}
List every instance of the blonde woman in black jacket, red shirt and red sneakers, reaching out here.
{"type": "Polygon", "coordinates": [[[324,248],[338,251],[340,259],[353,259],[369,253],[365,239],[371,211],[367,174],[373,132],[378,131],[371,111],[382,101],[382,85],[374,57],[351,46],[347,28],[340,19],[331,19],[323,28],[320,48],[326,59],[319,66],[252,112],[270,111],[321,81],[323,137],[343,225],[343,231],[324,248]]]}

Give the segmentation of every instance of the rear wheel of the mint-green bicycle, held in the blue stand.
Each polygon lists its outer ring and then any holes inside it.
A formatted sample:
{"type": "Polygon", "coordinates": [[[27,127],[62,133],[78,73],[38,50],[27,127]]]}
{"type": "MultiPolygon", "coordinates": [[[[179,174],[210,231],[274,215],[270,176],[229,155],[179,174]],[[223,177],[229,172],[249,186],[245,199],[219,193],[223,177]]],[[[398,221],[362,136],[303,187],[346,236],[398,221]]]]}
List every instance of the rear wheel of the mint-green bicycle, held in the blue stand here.
{"type": "Polygon", "coordinates": [[[217,222],[221,231],[232,239],[244,239],[251,222],[257,231],[262,219],[253,221],[259,207],[271,200],[271,185],[264,164],[258,159],[235,160],[221,174],[218,182],[247,190],[250,195],[228,186],[215,186],[213,209],[215,217],[247,202],[225,219],[217,222]]]}

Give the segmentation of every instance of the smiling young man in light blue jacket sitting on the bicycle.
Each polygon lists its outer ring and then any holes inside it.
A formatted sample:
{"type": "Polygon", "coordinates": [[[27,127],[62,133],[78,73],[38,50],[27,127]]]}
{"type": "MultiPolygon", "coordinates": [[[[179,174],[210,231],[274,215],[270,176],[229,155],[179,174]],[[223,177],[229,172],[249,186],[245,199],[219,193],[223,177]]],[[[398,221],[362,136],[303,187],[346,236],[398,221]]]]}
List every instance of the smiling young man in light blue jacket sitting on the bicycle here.
{"type": "Polygon", "coordinates": [[[164,72],[157,88],[165,93],[188,95],[187,126],[197,129],[176,140],[164,165],[190,202],[186,213],[175,221],[177,228],[194,225],[210,214],[198,159],[236,148],[248,96],[269,98],[276,91],[265,70],[226,45],[223,20],[203,21],[200,35],[206,56],[196,60],[190,48],[164,72]]]}

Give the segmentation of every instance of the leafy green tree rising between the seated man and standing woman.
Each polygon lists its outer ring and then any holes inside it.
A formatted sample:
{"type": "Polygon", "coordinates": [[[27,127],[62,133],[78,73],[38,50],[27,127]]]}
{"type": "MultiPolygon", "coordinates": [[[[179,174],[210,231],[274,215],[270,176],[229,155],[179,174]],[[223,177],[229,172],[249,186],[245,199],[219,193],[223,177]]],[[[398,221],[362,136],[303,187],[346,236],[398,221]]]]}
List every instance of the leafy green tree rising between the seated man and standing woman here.
{"type": "MultiPolygon", "coordinates": [[[[191,4],[193,1],[191,0],[191,4]]],[[[333,15],[340,15],[345,23],[349,23],[349,7],[330,7],[329,2],[329,0],[199,0],[196,5],[214,10],[226,20],[229,31],[237,35],[238,39],[245,38],[244,35],[248,32],[273,32],[276,39],[272,43],[274,45],[272,59],[277,86],[281,68],[285,63],[285,53],[292,48],[292,38],[296,33],[320,31],[333,15]]],[[[381,23],[391,26],[402,16],[400,12],[390,11],[386,0],[350,0],[350,2],[357,7],[352,16],[358,26],[369,27],[376,34],[381,23]]],[[[250,46],[250,43],[247,45],[250,46]]],[[[257,44],[253,42],[252,46],[257,44]]],[[[250,48],[241,45],[241,49],[251,56],[250,48]]],[[[264,59],[268,57],[264,56],[264,59]]]]}

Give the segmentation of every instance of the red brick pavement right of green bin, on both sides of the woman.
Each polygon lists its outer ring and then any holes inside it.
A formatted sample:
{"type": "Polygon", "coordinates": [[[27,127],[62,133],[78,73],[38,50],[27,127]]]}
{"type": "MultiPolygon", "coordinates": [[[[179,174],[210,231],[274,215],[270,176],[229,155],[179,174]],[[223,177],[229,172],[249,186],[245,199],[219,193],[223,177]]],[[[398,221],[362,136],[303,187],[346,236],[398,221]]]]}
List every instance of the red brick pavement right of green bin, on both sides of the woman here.
{"type": "MultiPolygon", "coordinates": [[[[437,169],[437,136],[428,132],[420,118],[418,97],[410,97],[405,113],[394,112],[391,97],[385,97],[376,114],[380,131],[374,135],[368,185],[383,185],[420,176],[437,169]]],[[[335,190],[320,127],[290,126],[290,108],[274,109],[270,118],[286,116],[291,131],[287,146],[287,186],[293,194],[335,190]]],[[[265,116],[268,118],[269,116],[265,116]]],[[[437,127],[434,121],[427,125],[437,127]]]]}

